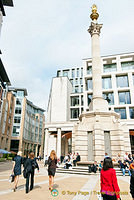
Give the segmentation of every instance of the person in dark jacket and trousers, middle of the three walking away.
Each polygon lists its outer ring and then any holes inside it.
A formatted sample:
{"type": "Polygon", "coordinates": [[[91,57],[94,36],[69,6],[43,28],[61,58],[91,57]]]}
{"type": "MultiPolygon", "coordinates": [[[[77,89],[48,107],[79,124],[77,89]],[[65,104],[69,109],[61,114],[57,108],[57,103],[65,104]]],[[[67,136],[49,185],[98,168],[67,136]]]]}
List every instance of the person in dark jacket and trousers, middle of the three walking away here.
{"type": "Polygon", "coordinates": [[[29,192],[30,176],[31,176],[30,190],[32,190],[34,187],[34,171],[36,168],[38,169],[39,172],[39,166],[34,157],[34,152],[31,152],[29,154],[29,158],[24,163],[24,171],[26,172],[26,193],[29,192]]]}

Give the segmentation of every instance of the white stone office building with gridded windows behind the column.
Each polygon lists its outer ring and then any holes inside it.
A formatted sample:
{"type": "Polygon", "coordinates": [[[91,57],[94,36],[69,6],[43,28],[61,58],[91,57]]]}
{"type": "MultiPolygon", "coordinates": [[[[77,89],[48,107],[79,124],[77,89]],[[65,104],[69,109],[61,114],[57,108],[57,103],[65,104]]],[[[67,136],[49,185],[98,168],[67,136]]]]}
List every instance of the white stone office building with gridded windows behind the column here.
{"type": "MultiPolygon", "coordinates": [[[[134,53],[102,56],[101,62],[103,97],[108,101],[109,110],[120,114],[121,124],[127,124],[134,152],[134,53]]],[[[71,151],[74,124],[82,112],[89,111],[92,95],[91,58],[84,59],[81,67],[57,71],[50,90],[45,136],[51,145],[53,141],[56,149],[60,132],[61,154],[71,151]]],[[[50,152],[47,144],[46,154],[50,152]]]]}

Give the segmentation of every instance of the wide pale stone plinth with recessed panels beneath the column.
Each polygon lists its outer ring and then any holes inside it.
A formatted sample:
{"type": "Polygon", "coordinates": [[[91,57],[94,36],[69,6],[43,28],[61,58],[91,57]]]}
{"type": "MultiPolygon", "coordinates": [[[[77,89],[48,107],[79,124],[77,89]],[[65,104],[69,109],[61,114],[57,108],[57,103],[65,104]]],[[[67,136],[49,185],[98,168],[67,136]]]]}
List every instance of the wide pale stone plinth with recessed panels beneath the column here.
{"type": "Polygon", "coordinates": [[[79,152],[82,161],[101,161],[105,153],[116,158],[120,153],[131,152],[127,126],[121,126],[119,114],[113,111],[92,111],[83,113],[74,126],[74,151],[79,152]],[[125,131],[125,133],[124,133],[125,131]]]}

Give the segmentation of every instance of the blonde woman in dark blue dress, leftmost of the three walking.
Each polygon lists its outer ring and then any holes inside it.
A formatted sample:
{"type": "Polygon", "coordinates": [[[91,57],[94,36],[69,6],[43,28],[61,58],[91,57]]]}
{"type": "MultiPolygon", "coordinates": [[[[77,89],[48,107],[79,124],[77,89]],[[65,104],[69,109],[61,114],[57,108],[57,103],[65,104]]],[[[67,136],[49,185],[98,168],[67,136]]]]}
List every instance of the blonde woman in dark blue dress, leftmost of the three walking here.
{"type": "Polygon", "coordinates": [[[19,175],[21,175],[21,164],[22,164],[22,152],[19,151],[17,155],[13,158],[13,168],[12,173],[14,174],[14,189],[15,192],[19,182],[19,175]]]}

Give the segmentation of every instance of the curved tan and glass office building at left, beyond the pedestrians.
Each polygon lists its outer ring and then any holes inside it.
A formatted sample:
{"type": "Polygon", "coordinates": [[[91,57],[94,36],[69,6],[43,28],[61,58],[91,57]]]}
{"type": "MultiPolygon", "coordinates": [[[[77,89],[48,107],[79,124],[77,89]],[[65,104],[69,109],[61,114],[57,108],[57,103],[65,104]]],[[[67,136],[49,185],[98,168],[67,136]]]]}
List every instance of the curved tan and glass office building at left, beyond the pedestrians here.
{"type": "Polygon", "coordinates": [[[27,98],[27,90],[8,88],[1,123],[1,148],[43,156],[44,110],[27,98]]]}

